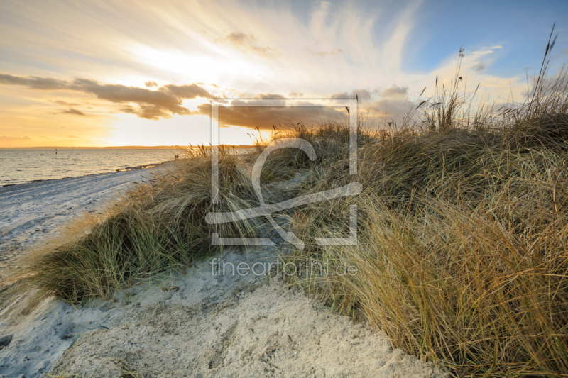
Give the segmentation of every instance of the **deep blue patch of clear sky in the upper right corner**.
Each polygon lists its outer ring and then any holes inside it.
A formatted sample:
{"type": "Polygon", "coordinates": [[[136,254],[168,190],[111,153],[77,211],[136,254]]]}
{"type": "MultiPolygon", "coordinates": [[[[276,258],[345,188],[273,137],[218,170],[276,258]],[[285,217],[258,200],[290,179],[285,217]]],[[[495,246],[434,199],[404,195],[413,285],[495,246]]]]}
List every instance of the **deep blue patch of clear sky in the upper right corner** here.
{"type": "Polygon", "coordinates": [[[488,69],[515,75],[524,67],[540,66],[555,22],[559,32],[555,52],[567,48],[567,15],[568,1],[425,1],[406,45],[405,68],[428,72],[459,46],[467,53],[501,45],[503,51],[488,69]]]}

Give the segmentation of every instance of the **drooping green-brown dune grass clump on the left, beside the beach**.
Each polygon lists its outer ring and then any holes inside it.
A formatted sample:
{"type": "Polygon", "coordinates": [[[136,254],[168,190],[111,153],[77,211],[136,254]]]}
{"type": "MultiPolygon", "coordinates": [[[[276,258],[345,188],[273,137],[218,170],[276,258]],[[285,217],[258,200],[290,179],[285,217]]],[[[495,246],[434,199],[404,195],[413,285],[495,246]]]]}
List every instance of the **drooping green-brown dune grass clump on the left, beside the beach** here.
{"type": "Polygon", "coordinates": [[[209,150],[188,152],[168,172],[127,192],[104,216],[78,221],[63,237],[51,240],[28,257],[18,289],[35,300],[57,296],[78,303],[94,296],[109,298],[116,289],[171,269],[192,266],[212,254],[210,232],[247,235],[252,221],[209,226],[209,211],[255,206],[245,165],[229,150],[219,160],[219,204],[211,204],[209,150]]]}

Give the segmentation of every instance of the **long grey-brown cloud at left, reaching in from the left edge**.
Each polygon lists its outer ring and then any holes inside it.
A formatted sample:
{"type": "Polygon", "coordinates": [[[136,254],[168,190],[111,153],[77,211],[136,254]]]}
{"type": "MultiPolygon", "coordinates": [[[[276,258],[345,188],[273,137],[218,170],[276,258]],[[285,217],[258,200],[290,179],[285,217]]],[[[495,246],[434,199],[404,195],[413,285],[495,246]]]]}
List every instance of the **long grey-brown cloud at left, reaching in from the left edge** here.
{"type": "MultiPolygon", "coordinates": [[[[72,82],[45,77],[16,77],[9,74],[0,74],[0,84],[21,85],[31,89],[40,90],[70,90],[92,94],[98,99],[116,104],[136,104],[138,107],[128,105],[126,113],[146,119],[171,118],[173,114],[186,115],[190,110],[182,106],[184,99],[211,98],[209,92],[197,84],[175,85],[167,84],[156,90],[127,87],[122,84],[102,84],[95,80],[74,79],[72,82]]],[[[64,113],[79,114],[70,109],[64,113]]],[[[84,114],[82,114],[84,115],[84,114]]]]}

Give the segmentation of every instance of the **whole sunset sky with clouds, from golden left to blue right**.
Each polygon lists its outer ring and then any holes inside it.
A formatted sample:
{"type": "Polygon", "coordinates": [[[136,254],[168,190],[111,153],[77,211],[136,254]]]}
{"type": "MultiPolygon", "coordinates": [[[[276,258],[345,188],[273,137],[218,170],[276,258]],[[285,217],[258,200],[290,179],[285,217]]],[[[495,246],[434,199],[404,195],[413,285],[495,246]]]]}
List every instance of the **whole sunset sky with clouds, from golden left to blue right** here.
{"type": "MultiPolygon", "coordinates": [[[[1,0],[0,148],[207,145],[211,99],[358,96],[380,123],[448,85],[460,47],[464,90],[518,101],[554,23],[552,72],[568,60],[565,0],[1,0]]],[[[234,145],[341,113],[225,110],[234,145]]]]}

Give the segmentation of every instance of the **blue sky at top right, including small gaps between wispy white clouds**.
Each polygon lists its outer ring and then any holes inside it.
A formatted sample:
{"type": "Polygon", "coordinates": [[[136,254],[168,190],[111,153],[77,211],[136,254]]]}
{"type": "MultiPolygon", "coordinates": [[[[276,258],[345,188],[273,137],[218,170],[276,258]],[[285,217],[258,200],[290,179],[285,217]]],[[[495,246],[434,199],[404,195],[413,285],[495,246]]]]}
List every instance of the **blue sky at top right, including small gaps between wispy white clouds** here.
{"type": "MultiPolygon", "coordinates": [[[[319,4],[293,1],[290,9],[307,24],[319,4]]],[[[525,67],[540,66],[544,38],[554,23],[555,34],[559,34],[555,55],[561,55],[562,48],[568,53],[568,1],[329,1],[329,14],[341,13],[346,4],[373,19],[377,45],[395,28],[400,13],[417,4],[403,56],[403,67],[410,72],[434,70],[449,55],[457,55],[459,47],[468,51],[502,45],[505,50],[498,54],[491,71],[518,74],[525,67]]]]}

